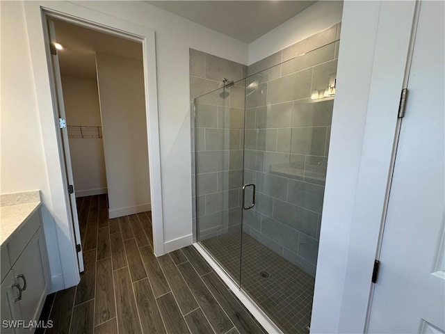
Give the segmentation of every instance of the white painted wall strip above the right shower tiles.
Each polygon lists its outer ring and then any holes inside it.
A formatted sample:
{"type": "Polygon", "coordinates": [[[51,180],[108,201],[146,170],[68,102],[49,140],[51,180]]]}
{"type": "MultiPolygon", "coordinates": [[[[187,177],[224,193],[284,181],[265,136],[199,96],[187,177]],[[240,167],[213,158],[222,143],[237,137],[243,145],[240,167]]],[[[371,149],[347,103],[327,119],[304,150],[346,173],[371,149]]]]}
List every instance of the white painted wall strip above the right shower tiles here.
{"type": "Polygon", "coordinates": [[[317,1],[249,45],[251,65],[341,22],[343,1],[317,1]]]}

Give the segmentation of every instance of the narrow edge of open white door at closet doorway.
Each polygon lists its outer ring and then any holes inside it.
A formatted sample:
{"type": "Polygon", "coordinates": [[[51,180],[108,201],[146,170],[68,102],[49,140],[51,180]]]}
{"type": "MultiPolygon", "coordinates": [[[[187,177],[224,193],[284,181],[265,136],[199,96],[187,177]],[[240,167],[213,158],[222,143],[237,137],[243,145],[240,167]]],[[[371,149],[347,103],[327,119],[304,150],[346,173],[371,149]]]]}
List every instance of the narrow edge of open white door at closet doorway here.
{"type": "MultiPolygon", "coordinates": [[[[62,79],[60,78],[60,66],[58,63],[57,50],[54,49],[54,45],[57,42],[56,39],[56,29],[54,29],[54,22],[51,19],[48,20],[48,30],[49,30],[49,40],[51,42],[51,60],[52,63],[49,64],[52,67],[53,72],[53,83],[54,87],[51,87],[53,90],[54,97],[57,99],[57,107],[59,117],[63,120],[66,120],[65,116],[65,105],[63,104],[63,90],[62,90],[62,79]]],[[[71,157],[70,157],[70,144],[68,142],[68,130],[67,127],[60,128],[60,139],[63,145],[63,166],[65,168],[65,182],[66,189],[69,185],[71,185],[72,193],[68,193],[67,191],[67,200],[70,202],[70,211],[71,211],[71,221],[74,228],[74,238],[76,242],[77,248],[77,260],[79,262],[79,271],[82,272],[84,270],[83,267],[83,255],[81,249],[81,230],[79,228],[79,217],[77,216],[77,205],[76,205],[76,193],[74,192],[74,178],[72,176],[72,165],[71,165],[71,157]]]]}

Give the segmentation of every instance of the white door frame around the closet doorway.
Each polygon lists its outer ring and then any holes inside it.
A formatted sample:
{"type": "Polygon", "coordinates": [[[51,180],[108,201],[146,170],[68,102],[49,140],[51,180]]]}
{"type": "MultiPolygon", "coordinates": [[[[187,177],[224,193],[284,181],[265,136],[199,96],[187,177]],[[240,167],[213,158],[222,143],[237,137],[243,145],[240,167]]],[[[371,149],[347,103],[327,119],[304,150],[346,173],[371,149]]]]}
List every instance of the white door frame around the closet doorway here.
{"type": "Polygon", "coordinates": [[[74,245],[72,216],[70,216],[70,203],[67,202],[67,192],[64,186],[67,184],[67,180],[65,170],[63,170],[63,148],[60,136],[58,136],[58,116],[51,95],[46,15],[142,42],[154,253],[157,256],[163,255],[163,208],[154,30],[65,1],[24,1],[24,10],[51,191],[51,194],[47,195],[51,198],[52,204],[49,211],[56,221],[65,288],[78,284],[80,276],[74,245]]]}

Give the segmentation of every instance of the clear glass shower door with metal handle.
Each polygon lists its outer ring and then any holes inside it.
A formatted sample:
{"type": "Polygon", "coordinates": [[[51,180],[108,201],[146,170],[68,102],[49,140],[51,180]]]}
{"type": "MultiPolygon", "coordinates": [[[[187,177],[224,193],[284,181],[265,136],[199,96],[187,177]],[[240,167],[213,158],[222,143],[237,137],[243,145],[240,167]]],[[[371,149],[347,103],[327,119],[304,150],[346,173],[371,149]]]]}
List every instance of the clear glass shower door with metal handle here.
{"type": "Polygon", "coordinates": [[[284,333],[310,325],[335,50],[326,45],[246,82],[243,184],[256,189],[245,189],[241,288],[284,333]]]}

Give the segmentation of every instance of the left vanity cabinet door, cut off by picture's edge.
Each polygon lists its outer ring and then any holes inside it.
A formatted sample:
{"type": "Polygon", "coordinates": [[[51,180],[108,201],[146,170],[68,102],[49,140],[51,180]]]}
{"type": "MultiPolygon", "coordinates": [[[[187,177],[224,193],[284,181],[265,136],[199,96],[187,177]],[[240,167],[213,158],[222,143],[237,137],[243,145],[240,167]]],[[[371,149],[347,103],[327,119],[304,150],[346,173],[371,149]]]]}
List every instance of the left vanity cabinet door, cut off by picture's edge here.
{"type": "Polygon", "coordinates": [[[6,276],[6,278],[3,280],[3,282],[1,282],[0,332],[2,334],[18,333],[14,330],[11,324],[12,321],[15,319],[22,319],[19,301],[15,301],[15,299],[19,298],[19,289],[17,287],[14,287],[13,286],[14,284],[15,284],[14,274],[12,271],[10,271],[6,276]]]}

